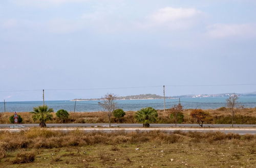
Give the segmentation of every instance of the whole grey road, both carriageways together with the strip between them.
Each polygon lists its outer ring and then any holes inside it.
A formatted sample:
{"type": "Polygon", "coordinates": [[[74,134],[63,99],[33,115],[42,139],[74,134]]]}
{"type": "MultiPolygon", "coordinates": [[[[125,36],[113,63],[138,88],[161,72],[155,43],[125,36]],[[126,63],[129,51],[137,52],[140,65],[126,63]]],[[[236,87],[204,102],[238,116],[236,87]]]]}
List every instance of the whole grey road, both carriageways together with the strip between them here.
{"type": "MultiPolygon", "coordinates": [[[[116,125],[116,124],[112,124],[116,125]]],[[[0,130],[2,131],[11,131],[18,132],[20,130],[29,129],[29,127],[38,127],[38,124],[0,124],[0,130]],[[15,128],[13,126],[22,126],[22,128],[15,128]],[[10,128],[13,127],[13,128],[10,128]]],[[[174,124],[151,124],[150,128],[143,128],[141,124],[119,124],[119,127],[109,128],[102,127],[108,126],[108,124],[47,124],[48,129],[51,130],[59,130],[59,131],[71,131],[75,129],[79,129],[85,132],[92,131],[103,131],[103,132],[112,132],[112,131],[165,131],[165,132],[173,132],[176,130],[180,131],[220,131],[224,133],[238,133],[238,134],[256,134],[256,125],[234,125],[234,128],[231,128],[231,125],[226,124],[215,124],[215,125],[205,125],[204,128],[199,127],[197,124],[178,124],[178,127],[175,128],[174,124]],[[172,126],[172,127],[170,127],[172,126]]]]}

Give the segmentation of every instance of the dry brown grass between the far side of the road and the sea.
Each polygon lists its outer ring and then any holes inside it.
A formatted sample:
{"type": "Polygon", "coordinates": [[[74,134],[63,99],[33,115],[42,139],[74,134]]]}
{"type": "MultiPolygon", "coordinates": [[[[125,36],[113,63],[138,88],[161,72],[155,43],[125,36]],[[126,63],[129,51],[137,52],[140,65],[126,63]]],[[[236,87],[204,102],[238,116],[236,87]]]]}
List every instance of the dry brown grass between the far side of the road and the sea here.
{"type": "MultiPolygon", "coordinates": [[[[192,109],[185,109],[184,122],[183,123],[196,123],[193,119],[190,118],[189,114],[192,109]]],[[[212,124],[231,124],[230,111],[225,108],[219,109],[206,109],[205,111],[209,112],[213,117],[212,124]]],[[[123,119],[120,120],[121,123],[137,123],[134,115],[136,111],[126,111],[126,115],[123,119]]],[[[105,112],[79,112],[79,113],[69,113],[70,117],[67,123],[108,123],[108,115],[105,112]]],[[[9,122],[9,117],[13,113],[2,113],[2,119],[0,123],[7,124],[9,122]]],[[[18,113],[23,118],[23,123],[35,123],[32,120],[32,114],[28,112],[18,113]]],[[[112,123],[117,123],[118,120],[112,117],[112,123]]],[[[57,119],[55,113],[53,113],[53,120],[48,121],[48,123],[61,123],[57,119]]],[[[167,109],[165,113],[163,110],[158,110],[158,120],[156,123],[174,123],[169,118],[169,110],[167,109]]],[[[256,124],[256,107],[255,108],[244,108],[239,109],[234,119],[236,124],[256,124]]]]}

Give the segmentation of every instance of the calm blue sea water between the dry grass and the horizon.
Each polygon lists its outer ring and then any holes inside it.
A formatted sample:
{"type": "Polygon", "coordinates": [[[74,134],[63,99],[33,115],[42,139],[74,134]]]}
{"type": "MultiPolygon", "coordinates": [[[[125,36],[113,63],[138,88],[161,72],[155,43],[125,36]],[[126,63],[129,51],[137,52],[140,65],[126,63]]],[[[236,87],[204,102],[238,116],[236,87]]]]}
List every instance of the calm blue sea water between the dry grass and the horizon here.
{"type": "MultiPolygon", "coordinates": [[[[214,98],[181,98],[181,104],[184,108],[202,108],[215,109],[226,106],[226,97],[214,98]]],[[[101,111],[102,107],[98,105],[99,101],[77,101],[75,111],[101,111]]],[[[156,109],[163,109],[163,99],[155,100],[116,100],[117,107],[123,110],[139,110],[144,107],[153,107],[156,109]]],[[[179,99],[165,99],[166,108],[177,104],[179,99]]],[[[256,96],[240,97],[239,102],[245,107],[256,107],[256,96]]],[[[54,111],[58,109],[66,109],[67,111],[74,111],[75,102],[69,100],[59,101],[45,101],[45,104],[53,108],[54,111]]],[[[6,102],[6,111],[32,111],[33,107],[42,105],[42,101],[18,101],[6,102]]],[[[0,112],[4,111],[4,102],[0,102],[0,112]]]]}

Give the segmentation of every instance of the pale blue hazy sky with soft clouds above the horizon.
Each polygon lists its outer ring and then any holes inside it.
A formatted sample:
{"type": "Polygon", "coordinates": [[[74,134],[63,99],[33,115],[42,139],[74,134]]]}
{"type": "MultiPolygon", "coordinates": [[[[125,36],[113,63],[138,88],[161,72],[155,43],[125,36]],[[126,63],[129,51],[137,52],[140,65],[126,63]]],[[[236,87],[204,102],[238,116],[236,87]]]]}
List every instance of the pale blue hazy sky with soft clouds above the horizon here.
{"type": "Polygon", "coordinates": [[[46,100],[69,100],[256,83],[255,9],[254,0],[1,1],[0,101],[41,100],[42,89],[46,100]]]}

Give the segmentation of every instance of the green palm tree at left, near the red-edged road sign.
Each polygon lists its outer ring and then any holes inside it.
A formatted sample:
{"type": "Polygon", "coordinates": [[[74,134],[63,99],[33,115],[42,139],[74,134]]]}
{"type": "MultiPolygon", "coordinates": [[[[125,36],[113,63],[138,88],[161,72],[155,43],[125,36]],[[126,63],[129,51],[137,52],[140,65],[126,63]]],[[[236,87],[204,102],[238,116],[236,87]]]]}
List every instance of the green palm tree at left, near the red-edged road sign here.
{"type": "Polygon", "coordinates": [[[33,111],[30,113],[34,114],[33,115],[33,120],[34,121],[40,121],[39,126],[40,127],[46,127],[46,122],[48,120],[52,120],[52,113],[53,108],[49,108],[47,105],[42,105],[38,107],[34,107],[33,111]]]}

